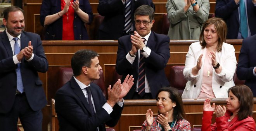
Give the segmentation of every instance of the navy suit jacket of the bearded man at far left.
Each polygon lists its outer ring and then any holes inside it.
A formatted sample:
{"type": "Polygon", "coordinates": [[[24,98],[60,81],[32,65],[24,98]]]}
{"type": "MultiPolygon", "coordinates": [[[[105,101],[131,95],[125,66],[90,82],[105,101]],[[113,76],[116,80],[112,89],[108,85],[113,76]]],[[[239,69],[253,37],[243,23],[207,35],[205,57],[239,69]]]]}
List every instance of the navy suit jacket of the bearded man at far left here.
{"type": "MultiPolygon", "coordinates": [[[[13,51],[5,31],[0,34],[0,113],[8,113],[11,110],[17,89],[17,65],[12,59],[13,51]]],[[[27,47],[29,41],[33,45],[34,57],[29,62],[25,58],[21,60],[21,76],[30,107],[33,111],[39,111],[47,104],[47,100],[42,86],[43,82],[39,79],[37,72],[46,72],[48,62],[40,36],[23,31],[21,49],[27,47]]]]}

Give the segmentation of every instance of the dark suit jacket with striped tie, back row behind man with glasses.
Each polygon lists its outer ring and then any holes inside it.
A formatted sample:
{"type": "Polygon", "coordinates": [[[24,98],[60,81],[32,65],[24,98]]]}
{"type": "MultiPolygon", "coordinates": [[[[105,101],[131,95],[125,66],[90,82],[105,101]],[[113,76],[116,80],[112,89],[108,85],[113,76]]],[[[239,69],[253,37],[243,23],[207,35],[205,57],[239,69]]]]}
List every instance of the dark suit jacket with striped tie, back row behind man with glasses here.
{"type": "MultiPolygon", "coordinates": [[[[134,30],[134,12],[141,5],[155,8],[152,0],[131,0],[131,22],[134,30]]],[[[99,27],[97,39],[117,40],[121,37],[125,28],[125,5],[123,2],[121,0],[99,0],[98,12],[104,16],[104,20],[99,27]]]]}

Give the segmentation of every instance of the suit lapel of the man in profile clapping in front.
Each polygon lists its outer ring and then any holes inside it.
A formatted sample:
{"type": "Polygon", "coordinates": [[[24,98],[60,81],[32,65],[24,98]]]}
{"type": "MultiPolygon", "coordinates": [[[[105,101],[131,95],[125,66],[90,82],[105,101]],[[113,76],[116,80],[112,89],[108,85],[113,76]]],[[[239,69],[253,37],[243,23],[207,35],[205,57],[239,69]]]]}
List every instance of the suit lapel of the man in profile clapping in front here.
{"type": "MultiPolygon", "coordinates": [[[[74,89],[74,93],[79,97],[79,99],[81,100],[81,102],[83,103],[83,106],[85,106],[86,110],[90,112],[90,107],[88,102],[86,101],[86,97],[83,94],[83,91],[81,90],[80,86],[76,83],[74,77],[72,76],[71,79],[71,88],[74,89]]],[[[92,113],[91,113],[92,114],[92,113]]]]}

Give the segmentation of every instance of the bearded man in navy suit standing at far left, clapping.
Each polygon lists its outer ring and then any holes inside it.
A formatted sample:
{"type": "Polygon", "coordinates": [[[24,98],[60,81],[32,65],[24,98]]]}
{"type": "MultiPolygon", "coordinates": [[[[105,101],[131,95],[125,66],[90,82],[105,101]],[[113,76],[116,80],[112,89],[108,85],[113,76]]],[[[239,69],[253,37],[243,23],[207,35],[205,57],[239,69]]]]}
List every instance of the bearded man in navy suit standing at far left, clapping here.
{"type": "Polygon", "coordinates": [[[0,127],[17,131],[18,118],[25,131],[42,131],[41,109],[47,104],[38,72],[48,62],[38,34],[25,32],[24,11],[16,6],[3,12],[6,29],[0,34],[0,127]]]}

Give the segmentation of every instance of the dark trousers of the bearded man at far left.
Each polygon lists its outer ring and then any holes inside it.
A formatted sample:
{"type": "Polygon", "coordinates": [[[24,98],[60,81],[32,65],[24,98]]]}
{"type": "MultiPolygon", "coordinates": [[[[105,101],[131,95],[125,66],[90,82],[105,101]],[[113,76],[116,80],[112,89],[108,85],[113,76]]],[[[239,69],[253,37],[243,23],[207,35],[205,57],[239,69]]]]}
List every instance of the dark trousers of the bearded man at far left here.
{"type": "Polygon", "coordinates": [[[0,113],[0,130],[17,131],[18,118],[21,120],[24,131],[42,131],[42,111],[33,111],[24,93],[16,95],[9,113],[0,113]]]}

